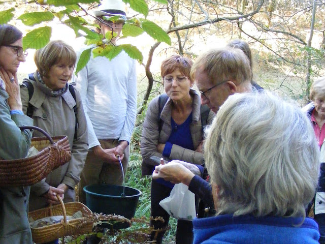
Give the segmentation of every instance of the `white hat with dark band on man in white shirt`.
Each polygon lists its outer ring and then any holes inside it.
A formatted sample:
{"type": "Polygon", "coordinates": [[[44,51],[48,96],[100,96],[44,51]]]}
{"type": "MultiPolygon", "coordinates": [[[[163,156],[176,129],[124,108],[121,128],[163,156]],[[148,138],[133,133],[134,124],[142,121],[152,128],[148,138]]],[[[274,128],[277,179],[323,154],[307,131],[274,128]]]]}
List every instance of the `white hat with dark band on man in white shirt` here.
{"type": "Polygon", "coordinates": [[[125,4],[122,0],[103,0],[98,9],[93,11],[96,17],[100,16],[120,16],[121,19],[127,20],[132,17],[126,16],[125,4]]]}

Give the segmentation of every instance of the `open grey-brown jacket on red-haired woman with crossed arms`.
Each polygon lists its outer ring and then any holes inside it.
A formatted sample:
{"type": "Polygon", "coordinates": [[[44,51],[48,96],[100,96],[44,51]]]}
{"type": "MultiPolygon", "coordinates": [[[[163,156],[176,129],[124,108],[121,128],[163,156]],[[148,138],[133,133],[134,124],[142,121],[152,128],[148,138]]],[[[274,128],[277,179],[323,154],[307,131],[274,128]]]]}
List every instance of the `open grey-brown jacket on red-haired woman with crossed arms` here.
{"type": "MultiPolygon", "coordinates": [[[[192,123],[190,124],[190,131],[193,140],[194,148],[197,148],[203,140],[203,130],[201,124],[201,99],[196,90],[190,89],[190,95],[193,99],[193,110],[192,110],[192,123]]],[[[156,162],[150,159],[151,156],[163,157],[162,154],[158,153],[158,143],[166,143],[169,136],[172,133],[171,126],[171,113],[173,101],[168,98],[163,110],[161,111],[160,117],[164,121],[163,127],[159,134],[159,101],[158,97],[154,98],[148,107],[146,118],[143,123],[142,138],[141,138],[141,154],[142,154],[142,175],[150,175],[156,162]]],[[[210,110],[207,125],[212,123],[214,113],[210,110]]],[[[186,149],[179,145],[173,144],[170,158],[165,160],[182,160],[192,164],[203,163],[203,154],[194,150],[186,149]]]]}

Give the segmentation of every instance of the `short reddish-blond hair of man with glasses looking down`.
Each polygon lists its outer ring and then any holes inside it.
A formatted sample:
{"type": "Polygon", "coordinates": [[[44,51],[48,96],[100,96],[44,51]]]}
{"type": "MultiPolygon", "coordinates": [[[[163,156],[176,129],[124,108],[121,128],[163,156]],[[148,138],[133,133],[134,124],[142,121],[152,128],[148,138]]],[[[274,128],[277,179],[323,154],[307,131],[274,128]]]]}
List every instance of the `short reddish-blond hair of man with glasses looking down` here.
{"type": "Polygon", "coordinates": [[[248,57],[241,49],[233,47],[211,49],[200,55],[190,72],[192,80],[198,70],[206,72],[212,84],[217,84],[216,79],[221,82],[231,80],[236,85],[251,80],[248,57]]]}

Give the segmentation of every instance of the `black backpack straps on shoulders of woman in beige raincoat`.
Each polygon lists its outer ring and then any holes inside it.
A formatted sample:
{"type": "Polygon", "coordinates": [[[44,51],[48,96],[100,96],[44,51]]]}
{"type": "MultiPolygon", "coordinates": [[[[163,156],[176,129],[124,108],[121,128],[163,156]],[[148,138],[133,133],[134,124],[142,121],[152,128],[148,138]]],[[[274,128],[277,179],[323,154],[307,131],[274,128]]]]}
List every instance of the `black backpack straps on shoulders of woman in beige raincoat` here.
{"type": "MultiPolygon", "coordinates": [[[[31,74],[28,74],[28,78],[32,81],[36,81],[35,78],[34,78],[34,74],[31,73],[31,74]]],[[[27,116],[29,117],[32,117],[32,114],[34,113],[34,106],[31,105],[29,103],[32,95],[34,94],[34,86],[32,86],[32,84],[30,83],[29,80],[25,79],[23,82],[22,82],[28,89],[28,96],[29,96],[29,99],[28,99],[28,108],[27,108],[27,116]]],[[[79,123],[78,123],[78,108],[77,108],[77,99],[76,99],[76,93],[75,93],[75,89],[73,87],[73,85],[69,85],[69,91],[73,97],[73,99],[75,100],[76,102],[76,105],[73,107],[73,111],[75,112],[75,116],[76,116],[76,126],[75,126],[75,136],[74,138],[77,139],[77,131],[78,131],[78,127],[79,127],[79,123]]]]}

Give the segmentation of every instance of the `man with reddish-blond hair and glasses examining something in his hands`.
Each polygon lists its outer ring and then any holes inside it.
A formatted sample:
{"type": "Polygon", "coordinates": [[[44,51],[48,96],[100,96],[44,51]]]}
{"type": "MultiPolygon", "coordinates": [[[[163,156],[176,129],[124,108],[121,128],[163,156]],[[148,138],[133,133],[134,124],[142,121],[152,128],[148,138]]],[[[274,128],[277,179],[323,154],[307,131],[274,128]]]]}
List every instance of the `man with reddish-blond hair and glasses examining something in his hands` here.
{"type": "MultiPolygon", "coordinates": [[[[214,113],[229,96],[252,90],[249,60],[238,48],[225,47],[203,53],[194,63],[190,74],[200,90],[201,103],[207,104],[214,113]]],[[[172,161],[156,166],[152,177],[182,182],[201,199],[198,217],[214,214],[211,186],[206,180],[208,174],[204,167],[172,161]]]]}

